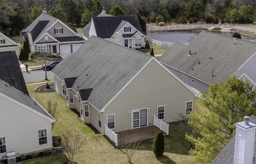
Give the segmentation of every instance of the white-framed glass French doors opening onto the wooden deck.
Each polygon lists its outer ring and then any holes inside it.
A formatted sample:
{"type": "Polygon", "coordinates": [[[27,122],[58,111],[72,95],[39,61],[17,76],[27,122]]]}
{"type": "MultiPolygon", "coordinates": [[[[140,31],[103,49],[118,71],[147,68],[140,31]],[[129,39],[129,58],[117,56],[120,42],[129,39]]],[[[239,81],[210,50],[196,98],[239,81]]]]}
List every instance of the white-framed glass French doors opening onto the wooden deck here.
{"type": "Polygon", "coordinates": [[[132,128],[139,128],[147,125],[147,109],[132,111],[132,128]]]}

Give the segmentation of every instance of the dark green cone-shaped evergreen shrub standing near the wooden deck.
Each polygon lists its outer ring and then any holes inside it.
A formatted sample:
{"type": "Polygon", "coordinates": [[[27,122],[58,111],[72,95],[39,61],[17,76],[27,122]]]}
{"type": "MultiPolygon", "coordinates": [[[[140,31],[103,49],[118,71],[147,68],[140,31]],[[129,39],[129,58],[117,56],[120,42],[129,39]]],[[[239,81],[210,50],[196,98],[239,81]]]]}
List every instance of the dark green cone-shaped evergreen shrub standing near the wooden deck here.
{"type": "Polygon", "coordinates": [[[154,138],[152,150],[156,156],[162,156],[164,153],[164,134],[161,131],[156,132],[156,136],[154,138]]]}

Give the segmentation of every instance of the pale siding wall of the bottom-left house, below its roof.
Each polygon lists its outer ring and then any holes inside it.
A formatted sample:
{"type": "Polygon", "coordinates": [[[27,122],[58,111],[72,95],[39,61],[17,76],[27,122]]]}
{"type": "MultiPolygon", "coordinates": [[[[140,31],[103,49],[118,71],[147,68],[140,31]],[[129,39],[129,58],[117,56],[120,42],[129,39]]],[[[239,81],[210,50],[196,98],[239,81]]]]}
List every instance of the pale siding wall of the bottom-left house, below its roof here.
{"type": "MultiPolygon", "coordinates": [[[[0,136],[5,136],[6,151],[26,154],[52,148],[50,121],[30,110],[0,96],[0,136]],[[47,128],[48,143],[39,145],[38,129],[47,128]]],[[[0,159],[6,153],[0,154],[0,159]]]]}

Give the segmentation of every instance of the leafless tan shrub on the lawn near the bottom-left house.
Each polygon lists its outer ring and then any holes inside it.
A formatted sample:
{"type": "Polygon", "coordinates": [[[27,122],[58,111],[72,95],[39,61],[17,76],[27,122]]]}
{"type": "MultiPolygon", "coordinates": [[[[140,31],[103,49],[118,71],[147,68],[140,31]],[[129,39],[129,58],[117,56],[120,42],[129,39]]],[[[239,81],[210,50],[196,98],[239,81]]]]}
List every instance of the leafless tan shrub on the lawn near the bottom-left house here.
{"type": "Polygon", "coordinates": [[[61,136],[62,148],[66,156],[68,156],[68,163],[72,164],[76,154],[84,145],[86,138],[82,137],[78,132],[69,129],[63,130],[59,135],[61,136]]]}

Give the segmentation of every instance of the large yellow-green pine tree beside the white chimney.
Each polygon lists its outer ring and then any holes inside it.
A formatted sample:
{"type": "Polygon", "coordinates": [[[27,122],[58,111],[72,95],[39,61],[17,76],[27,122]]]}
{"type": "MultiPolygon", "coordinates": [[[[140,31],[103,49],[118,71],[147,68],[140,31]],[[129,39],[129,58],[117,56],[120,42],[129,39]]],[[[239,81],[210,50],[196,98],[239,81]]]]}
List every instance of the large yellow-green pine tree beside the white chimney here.
{"type": "Polygon", "coordinates": [[[201,93],[200,104],[205,108],[197,106],[188,120],[199,135],[186,134],[186,138],[195,146],[189,154],[199,162],[210,163],[234,136],[235,123],[256,114],[256,89],[252,90],[247,80],[233,76],[201,93]]]}

